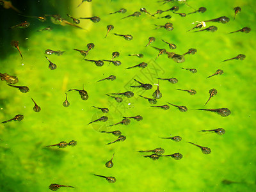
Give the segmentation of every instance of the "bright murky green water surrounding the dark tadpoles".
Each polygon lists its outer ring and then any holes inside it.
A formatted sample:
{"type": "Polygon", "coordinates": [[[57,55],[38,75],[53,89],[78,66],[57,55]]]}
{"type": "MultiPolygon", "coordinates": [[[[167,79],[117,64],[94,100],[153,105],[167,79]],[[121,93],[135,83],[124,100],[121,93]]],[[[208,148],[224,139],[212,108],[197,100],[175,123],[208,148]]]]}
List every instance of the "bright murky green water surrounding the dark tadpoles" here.
{"type": "MultiPolygon", "coordinates": [[[[64,3],[68,4],[68,1],[64,3]]],[[[46,13],[86,17],[92,12],[101,20],[99,23],[82,20],[81,26],[87,31],[56,26],[49,20],[41,23],[28,19],[31,29],[25,29],[26,33],[20,32],[24,29],[12,32],[12,38],[20,41],[24,60],[20,60],[19,52],[12,49],[1,60],[0,72],[19,77],[17,85],[29,86],[30,91],[20,93],[4,81],[0,82],[1,122],[17,114],[24,115],[21,122],[0,124],[0,191],[49,191],[51,183],[76,188],[61,188],[60,191],[255,191],[255,2],[191,0],[188,2],[190,6],[205,6],[207,11],[184,18],[173,13],[162,13],[161,16],[172,15],[170,20],[152,18],[145,13],[138,18],[120,19],[141,7],[147,8],[150,13],[167,10],[173,5],[180,6],[178,12],[189,13],[193,10],[183,4],[161,5],[156,1],[143,0],[93,0],[76,8],[79,3],[76,1],[65,8],[52,1],[49,9],[56,12],[46,13]],[[235,6],[241,6],[242,11],[233,20],[235,6]],[[127,13],[108,15],[120,8],[126,8],[127,13]],[[207,26],[218,27],[215,33],[186,32],[195,26],[191,23],[196,20],[224,15],[230,18],[227,24],[207,23],[207,26]],[[173,23],[173,31],[153,30],[154,24],[164,25],[166,22],[173,23]],[[113,24],[115,28],[104,38],[108,24],[113,24]],[[53,30],[36,32],[47,26],[52,26],[53,30]],[[252,28],[252,31],[248,34],[227,34],[245,26],[252,28]],[[134,39],[125,41],[113,33],[131,34],[134,39]],[[155,61],[158,52],[152,47],[145,47],[150,36],[156,37],[152,46],[172,51],[161,41],[163,39],[177,45],[174,50],[177,54],[183,54],[190,48],[196,48],[198,52],[186,55],[184,63],[175,63],[166,55],[159,56],[155,61]],[[86,56],[88,60],[109,60],[111,53],[118,51],[118,60],[122,61],[122,65],[116,67],[106,62],[102,67],[96,67],[93,63],[82,61],[83,56],[72,49],[86,49],[86,44],[90,42],[95,44],[95,48],[86,56]],[[47,56],[56,63],[56,70],[48,68],[49,61],[44,57],[46,49],[65,51],[62,56],[47,56]],[[138,53],[143,53],[144,57],[127,56],[138,53]],[[240,53],[246,54],[245,60],[221,62],[240,53]],[[141,62],[148,63],[148,67],[125,69],[141,62]],[[180,67],[196,68],[198,72],[192,74],[180,67]],[[219,68],[224,71],[223,75],[206,79],[219,68]],[[116,76],[115,81],[96,83],[111,74],[116,76]],[[156,85],[147,91],[129,88],[134,84],[132,78],[154,84],[157,83],[155,77],[175,77],[179,80],[177,84],[160,81],[163,97],[157,100],[157,105],[166,102],[184,105],[188,107],[186,113],[180,113],[173,106],[167,111],[150,108],[147,100],[138,97],[139,94],[152,97],[156,85]],[[70,106],[64,108],[65,92],[71,88],[82,89],[83,84],[89,99],[81,100],[78,92],[68,92],[70,106]],[[195,89],[197,93],[189,95],[175,90],[177,88],[195,89]],[[211,88],[216,88],[218,93],[204,107],[211,88]],[[122,103],[105,95],[127,90],[134,92],[134,97],[124,97],[122,103]],[[42,108],[40,113],[33,111],[34,104],[30,97],[42,108]],[[109,121],[87,125],[104,115],[92,106],[109,108],[106,114],[109,121]],[[223,118],[216,113],[193,110],[196,108],[228,108],[232,113],[223,118]],[[131,120],[127,126],[106,127],[122,120],[122,116],[134,115],[143,116],[143,120],[131,120]],[[226,130],[222,136],[198,132],[219,127],[226,130]],[[122,131],[127,140],[106,145],[116,137],[99,131],[115,130],[122,131]],[[176,143],[159,139],[170,134],[181,136],[182,141],[176,143]],[[77,141],[76,147],[45,148],[46,145],[70,140],[77,141]],[[187,141],[209,147],[212,153],[202,154],[200,148],[187,141]],[[165,154],[180,152],[183,158],[176,161],[166,157],[152,161],[136,152],[156,147],[164,148],[165,154]],[[104,164],[111,159],[113,152],[114,166],[106,168],[104,164]],[[116,177],[116,182],[109,184],[93,174],[116,177]],[[238,183],[225,185],[221,183],[223,179],[238,183]]],[[[41,2],[38,6],[43,4],[41,2]]],[[[8,11],[17,15],[12,10],[8,11]]],[[[1,44],[2,47],[10,47],[10,42],[1,44]]]]}

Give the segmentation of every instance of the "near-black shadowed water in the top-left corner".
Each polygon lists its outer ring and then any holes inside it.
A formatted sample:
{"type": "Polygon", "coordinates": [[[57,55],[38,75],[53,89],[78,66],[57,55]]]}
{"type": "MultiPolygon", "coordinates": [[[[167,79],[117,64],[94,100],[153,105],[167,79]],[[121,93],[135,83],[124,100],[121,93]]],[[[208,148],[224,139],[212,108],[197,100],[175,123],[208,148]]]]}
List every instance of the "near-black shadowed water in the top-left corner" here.
{"type": "MultiPolygon", "coordinates": [[[[12,5],[20,10],[20,12],[24,13],[24,15],[29,16],[60,14],[57,9],[52,6],[51,1],[12,0],[12,5]]],[[[24,50],[24,48],[28,48],[26,46],[27,41],[25,39],[29,38],[31,33],[41,33],[36,30],[46,28],[48,26],[54,26],[54,28],[56,28],[56,25],[52,24],[51,20],[48,18],[45,22],[40,22],[37,19],[22,17],[11,8],[5,9],[3,6],[0,6],[0,25],[0,59],[4,59],[8,54],[14,52],[14,48],[10,45],[12,40],[18,40],[20,47],[24,50]],[[10,29],[10,27],[21,24],[24,21],[28,21],[30,23],[29,28],[10,29]]]]}

